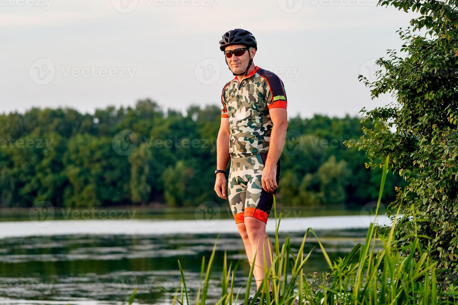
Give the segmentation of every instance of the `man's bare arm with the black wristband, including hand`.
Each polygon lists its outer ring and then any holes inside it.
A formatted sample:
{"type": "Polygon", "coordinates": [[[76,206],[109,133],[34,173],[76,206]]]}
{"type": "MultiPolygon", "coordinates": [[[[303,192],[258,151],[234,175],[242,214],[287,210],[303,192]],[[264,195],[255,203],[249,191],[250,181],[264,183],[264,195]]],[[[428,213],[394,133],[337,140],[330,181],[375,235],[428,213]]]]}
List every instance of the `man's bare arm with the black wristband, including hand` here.
{"type": "MultiPolygon", "coordinates": [[[[216,169],[226,170],[229,164],[229,119],[221,118],[218,139],[216,141],[216,169]]],[[[215,192],[219,197],[226,198],[226,176],[223,173],[216,174],[215,192]]]]}

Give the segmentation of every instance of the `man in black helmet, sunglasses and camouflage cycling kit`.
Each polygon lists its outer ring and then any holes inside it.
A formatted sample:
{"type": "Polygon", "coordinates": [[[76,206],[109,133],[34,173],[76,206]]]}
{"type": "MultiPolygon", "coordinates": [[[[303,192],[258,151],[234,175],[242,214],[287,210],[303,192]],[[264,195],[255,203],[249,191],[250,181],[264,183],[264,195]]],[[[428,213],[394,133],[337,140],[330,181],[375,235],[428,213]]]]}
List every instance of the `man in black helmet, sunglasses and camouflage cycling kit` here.
{"type": "Polygon", "coordinates": [[[226,32],[219,47],[235,77],[221,95],[215,191],[219,197],[229,198],[250,265],[256,252],[254,276],[259,289],[264,278],[262,251],[266,252],[267,268],[271,264],[269,253],[273,253],[266,224],[278,188],[279,158],[288,128],[286,94],[277,75],[253,63],[257,42],[251,32],[226,32]],[[227,184],[224,170],[229,159],[227,184]]]}

